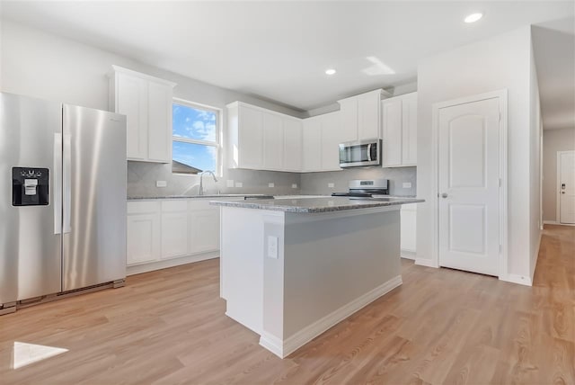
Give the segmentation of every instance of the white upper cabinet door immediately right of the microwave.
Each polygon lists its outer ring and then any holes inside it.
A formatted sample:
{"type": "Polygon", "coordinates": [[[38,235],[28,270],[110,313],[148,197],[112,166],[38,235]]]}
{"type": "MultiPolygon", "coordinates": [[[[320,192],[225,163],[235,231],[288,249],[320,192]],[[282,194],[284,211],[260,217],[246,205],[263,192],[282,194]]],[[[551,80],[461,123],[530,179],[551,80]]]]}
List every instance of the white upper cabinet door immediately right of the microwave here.
{"type": "Polygon", "coordinates": [[[383,162],[382,166],[402,165],[402,99],[382,102],[383,162]]]}

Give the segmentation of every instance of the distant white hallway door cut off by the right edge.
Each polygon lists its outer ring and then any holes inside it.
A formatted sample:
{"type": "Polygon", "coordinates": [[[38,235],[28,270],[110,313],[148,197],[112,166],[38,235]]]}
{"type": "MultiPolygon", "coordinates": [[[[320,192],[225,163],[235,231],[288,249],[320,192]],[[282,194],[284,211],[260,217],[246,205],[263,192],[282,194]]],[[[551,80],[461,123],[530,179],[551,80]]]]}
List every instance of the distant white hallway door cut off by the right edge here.
{"type": "Polygon", "coordinates": [[[575,224],[575,151],[559,154],[559,222],[575,224]]]}

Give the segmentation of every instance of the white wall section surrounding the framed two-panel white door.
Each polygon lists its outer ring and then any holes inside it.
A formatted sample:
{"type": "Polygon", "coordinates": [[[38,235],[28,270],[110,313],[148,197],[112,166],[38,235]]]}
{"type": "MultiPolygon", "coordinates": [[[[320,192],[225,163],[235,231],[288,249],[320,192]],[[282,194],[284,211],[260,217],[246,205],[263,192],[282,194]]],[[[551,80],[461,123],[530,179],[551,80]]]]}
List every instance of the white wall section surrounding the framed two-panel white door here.
{"type": "Polygon", "coordinates": [[[431,106],[500,89],[509,92],[509,264],[530,274],[530,27],[427,58],[418,67],[417,257],[431,260],[434,194],[431,165],[431,106]]]}

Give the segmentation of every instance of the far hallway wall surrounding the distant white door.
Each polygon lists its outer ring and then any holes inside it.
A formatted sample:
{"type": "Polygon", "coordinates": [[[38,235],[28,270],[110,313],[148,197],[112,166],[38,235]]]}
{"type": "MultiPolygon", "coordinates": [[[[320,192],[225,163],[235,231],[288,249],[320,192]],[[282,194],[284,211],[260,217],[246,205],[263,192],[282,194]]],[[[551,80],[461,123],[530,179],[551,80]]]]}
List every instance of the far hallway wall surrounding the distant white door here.
{"type": "Polygon", "coordinates": [[[557,151],[575,150],[575,127],[543,132],[543,219],[557,218],[557,151]]]}

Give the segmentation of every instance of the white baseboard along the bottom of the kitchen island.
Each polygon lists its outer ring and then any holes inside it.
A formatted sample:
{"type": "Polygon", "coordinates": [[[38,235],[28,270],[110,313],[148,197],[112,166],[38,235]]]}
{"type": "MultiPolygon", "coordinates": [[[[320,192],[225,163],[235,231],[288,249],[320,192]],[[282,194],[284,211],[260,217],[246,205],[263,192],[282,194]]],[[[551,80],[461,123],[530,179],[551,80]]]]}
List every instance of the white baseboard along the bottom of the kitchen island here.
{"type": "Polygon", "coordinates": [[[377,300],[382,295],[394,290],[396,287],[400,286],[402,282],[402,276],[397,275],[384,284],[377,286],[376,289],[368,291],[358,299],[352,300],[340,309],[318,319],[313,324],[301,329],[296,334],[289,336],[283,341],[277,336],[272,336],[264,331],[260,337],[260,345],[268,349],[271,353],[279,356],[279,358],[284,358],[313,340],[316,336],[321,335],[330,327],[340,323],[345,318],[348,318],[359,309],[366,307],[369,303],[377,300]]]}

